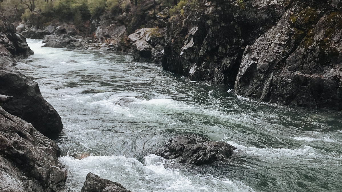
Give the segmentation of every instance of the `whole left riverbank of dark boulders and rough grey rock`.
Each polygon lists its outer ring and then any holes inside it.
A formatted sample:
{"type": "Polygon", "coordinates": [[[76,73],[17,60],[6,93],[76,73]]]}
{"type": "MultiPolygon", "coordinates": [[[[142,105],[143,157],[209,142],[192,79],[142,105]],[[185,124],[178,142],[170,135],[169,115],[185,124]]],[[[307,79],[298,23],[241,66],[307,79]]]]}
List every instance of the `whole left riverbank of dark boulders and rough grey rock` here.
{"type": "Polygon", "coordinates": [[[33,54],[12,24],[0,19],[0,191],[52,192],[64,186],[60,148],[46,136],[63,125],[36,82],[13,68],[15,56],[33,54]],[[44,135],[46,136],[44,136],[44,135]]]}

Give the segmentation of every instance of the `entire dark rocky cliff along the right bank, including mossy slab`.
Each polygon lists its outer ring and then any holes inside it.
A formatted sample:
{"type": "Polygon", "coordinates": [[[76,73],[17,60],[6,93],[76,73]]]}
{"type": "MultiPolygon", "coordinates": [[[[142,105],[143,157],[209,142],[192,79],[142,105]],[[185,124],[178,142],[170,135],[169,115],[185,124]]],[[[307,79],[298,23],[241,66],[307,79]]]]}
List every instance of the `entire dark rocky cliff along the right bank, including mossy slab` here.
{"type": "Polygon", "coordinates": [[[341,6],[189,0],[169,19],[163,69],[267,102],[342,110],[341,6]]]}

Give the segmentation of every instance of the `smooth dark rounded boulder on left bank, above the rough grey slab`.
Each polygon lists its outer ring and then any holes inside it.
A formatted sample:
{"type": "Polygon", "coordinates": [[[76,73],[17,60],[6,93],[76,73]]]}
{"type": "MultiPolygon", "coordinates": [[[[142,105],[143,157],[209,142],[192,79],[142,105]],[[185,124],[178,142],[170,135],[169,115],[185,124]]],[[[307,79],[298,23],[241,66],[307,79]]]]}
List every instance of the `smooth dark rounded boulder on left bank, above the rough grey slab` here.
{"type": "MultiPolygon", "coordinates": [[[[10,55],[1,47],[3,46],[0,44],[0,55],[10,55]]],[[[0,94],[13,98],[0,105],[7,112],[32,123],[44,135],[53,136],[60,133],[63,129],[61,117],[43,99],[38,84],[15,70],[10,57],[5,58],[0,59],[0,94]]]]}

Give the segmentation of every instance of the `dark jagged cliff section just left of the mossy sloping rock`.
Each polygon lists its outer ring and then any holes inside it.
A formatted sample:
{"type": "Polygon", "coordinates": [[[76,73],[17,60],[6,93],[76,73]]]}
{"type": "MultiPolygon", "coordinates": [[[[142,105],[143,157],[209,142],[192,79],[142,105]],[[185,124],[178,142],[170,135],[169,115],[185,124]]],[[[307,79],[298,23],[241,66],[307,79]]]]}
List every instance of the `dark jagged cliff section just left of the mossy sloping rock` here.
{"type": "Polygon", "coordinates": [[[163,69],[232,86],[245,46],[271,28],[289,4],[283,0],[188,2],[184,14],[169,19],[163,69]]]}

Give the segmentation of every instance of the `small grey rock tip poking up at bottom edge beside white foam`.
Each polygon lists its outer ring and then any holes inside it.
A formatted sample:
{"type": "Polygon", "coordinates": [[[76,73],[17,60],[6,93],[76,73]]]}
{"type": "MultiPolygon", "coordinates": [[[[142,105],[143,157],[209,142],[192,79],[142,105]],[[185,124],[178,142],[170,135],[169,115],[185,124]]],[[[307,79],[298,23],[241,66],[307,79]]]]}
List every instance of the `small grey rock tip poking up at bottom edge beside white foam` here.
{"type": "Polygon", "coordinates": [[[131,192],[120,183],[88,173],[81,192],[131,192]]]}

